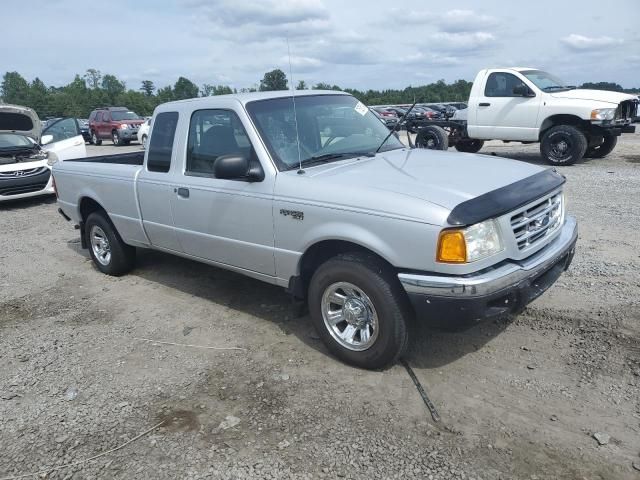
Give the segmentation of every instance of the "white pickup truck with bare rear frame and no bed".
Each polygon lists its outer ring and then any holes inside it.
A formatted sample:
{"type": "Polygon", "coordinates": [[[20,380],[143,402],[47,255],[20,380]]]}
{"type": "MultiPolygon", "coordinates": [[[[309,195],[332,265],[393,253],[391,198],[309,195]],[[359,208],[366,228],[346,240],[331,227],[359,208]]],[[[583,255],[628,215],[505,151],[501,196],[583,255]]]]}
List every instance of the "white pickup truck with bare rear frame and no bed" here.
{"type": "Polygon", "coordinates": [[[534,68],[481,70],[469,108],[447,121],[409,122],[416,146],[478,152],[485,140],[540,142],[552,165],[601,158],[622,133],[635,132],[638,98],[619,92],[576,89],[534,68]]]}

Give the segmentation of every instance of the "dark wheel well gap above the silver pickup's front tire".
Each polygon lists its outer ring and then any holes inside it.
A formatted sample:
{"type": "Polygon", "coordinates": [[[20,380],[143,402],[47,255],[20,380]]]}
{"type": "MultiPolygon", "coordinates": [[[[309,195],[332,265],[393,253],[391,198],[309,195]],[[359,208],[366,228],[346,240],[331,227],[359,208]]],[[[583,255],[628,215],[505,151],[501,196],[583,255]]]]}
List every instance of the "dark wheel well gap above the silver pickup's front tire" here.
{"type": "Polygon", "coordinates": [[[295,297],[306,298],[307,288],[309,287],[313,273],[324,262],[341,253],[364,253],[371,255],[390,268],[393,268],[383,257],[362,245],[345,240],[323,240],[313,244],[302,255],[299,275],[289,279],[289,292],[295,297]]]}

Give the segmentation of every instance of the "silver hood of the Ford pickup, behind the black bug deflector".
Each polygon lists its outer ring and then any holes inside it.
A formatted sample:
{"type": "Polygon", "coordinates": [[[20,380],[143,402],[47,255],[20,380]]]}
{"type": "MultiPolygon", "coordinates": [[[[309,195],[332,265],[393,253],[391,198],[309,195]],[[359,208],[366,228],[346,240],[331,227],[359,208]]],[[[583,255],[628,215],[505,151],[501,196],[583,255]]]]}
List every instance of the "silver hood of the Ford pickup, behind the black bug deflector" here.
{"type": "Polygon", "coordinates": [[[301,187],[299,182],[291,182],[290,190],[285,188],[288,191],[283,193],[297,197],[302,188],[309,200],[326,202],[330,195],[336,206],[373,209],[440,224],[460,203],[543,170],[489,155],[399,149],[373,158],[310,167],[303,176],[288,171],[308,184],[301,187]],[[427,214],[429,209],[416,200],[440,207],[439,213],[427,214]]]}

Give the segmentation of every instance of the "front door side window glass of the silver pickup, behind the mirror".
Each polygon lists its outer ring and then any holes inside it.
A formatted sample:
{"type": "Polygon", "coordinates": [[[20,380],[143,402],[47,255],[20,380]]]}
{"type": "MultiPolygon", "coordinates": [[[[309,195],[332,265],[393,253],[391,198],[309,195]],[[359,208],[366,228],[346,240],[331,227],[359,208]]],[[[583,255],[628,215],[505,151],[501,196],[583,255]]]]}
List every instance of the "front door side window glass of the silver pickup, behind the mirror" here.
{"type": "Polygon", "coordinates": [[[240,153],[247,158],[254,157],[247,132],[235,112],[231,110],[193,112],[187,144],[187,173],[213,175],[213,164],[216,159],[221,155],[234,153],[240,153]]]}

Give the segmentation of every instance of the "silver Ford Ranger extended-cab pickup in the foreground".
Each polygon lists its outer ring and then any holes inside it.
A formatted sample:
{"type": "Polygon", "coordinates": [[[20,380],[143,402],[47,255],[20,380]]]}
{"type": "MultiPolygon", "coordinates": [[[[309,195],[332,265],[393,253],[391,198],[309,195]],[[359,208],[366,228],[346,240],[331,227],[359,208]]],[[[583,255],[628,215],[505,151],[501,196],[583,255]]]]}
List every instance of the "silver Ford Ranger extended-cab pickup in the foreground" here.
{"type": "Polygon", "coordinates": [[[563,176],[406,148],[347,94],[184,100],[152,125],[145,152],[53,167],[96,267],[154,248],[280,285],[353,365],[394,363],[414,321],[517,313],[573,257],[563,176]]]}

